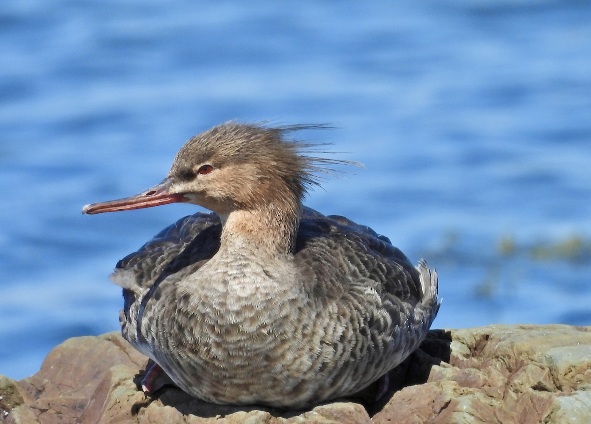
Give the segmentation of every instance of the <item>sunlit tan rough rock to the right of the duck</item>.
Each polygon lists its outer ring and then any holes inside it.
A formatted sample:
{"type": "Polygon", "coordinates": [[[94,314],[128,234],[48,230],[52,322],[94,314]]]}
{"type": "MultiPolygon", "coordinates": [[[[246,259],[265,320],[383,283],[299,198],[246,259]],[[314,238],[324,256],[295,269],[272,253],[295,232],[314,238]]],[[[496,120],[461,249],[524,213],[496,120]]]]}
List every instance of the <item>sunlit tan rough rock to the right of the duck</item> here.
{"type": "MultiPolygon", "coordinates": [[[[591,327],[491,325],[443,332],[449,360],[374,416],[398,423],[591,422],[591,327]]],[[[439,334],[440,338],[441,335],[439,334]]],[[[424,348],[424,347],[423,347],[424,348]]]]}

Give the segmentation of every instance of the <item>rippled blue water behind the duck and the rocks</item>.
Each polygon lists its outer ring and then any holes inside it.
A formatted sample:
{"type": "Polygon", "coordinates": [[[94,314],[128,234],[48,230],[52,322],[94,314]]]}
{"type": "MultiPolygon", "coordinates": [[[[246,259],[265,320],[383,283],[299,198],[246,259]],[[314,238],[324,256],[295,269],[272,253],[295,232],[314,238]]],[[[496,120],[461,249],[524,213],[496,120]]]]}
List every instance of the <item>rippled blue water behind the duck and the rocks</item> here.
{"type": "Polygon", "coordinates": [[[307,204],[436,266],[434,327],[591,324],[588,257],[496,251],[591,236],[589,2],[2,0],[0,51],[0,373],[118,330],[116,261],[196,208],[80,209],[229,119],[337,127],[366,168],[307,204]]]}

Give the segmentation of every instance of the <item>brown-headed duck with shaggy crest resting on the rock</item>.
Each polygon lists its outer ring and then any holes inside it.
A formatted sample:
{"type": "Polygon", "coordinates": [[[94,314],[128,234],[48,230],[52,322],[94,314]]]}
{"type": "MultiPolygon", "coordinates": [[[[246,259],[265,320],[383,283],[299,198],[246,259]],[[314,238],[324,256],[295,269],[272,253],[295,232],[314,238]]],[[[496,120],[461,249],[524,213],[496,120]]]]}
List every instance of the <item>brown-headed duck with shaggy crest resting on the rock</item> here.
{"type": "Polygon", "coordinates": [[[384,378],[426,337],[436,270],[367,226],[303,206],[322,172],[349,162],[291,136],[307,128],[217,125],[184,143],[160,184],[83,207],[211,211],[167,227],[111,276],[122,336],[154,361],[145,392],[169,379],[209,403],[303,409],[384,378]]]}

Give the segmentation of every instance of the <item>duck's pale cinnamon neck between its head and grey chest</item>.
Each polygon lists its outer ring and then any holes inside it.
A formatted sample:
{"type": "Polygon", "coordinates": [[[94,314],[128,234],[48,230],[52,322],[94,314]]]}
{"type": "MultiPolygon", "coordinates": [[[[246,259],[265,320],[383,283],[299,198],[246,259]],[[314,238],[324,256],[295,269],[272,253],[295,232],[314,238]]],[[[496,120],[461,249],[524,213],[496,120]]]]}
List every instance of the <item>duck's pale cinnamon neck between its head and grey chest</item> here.
{"type": "Polygon", "coordinates": [[[300,223],[299,201],[268,203],[221,216],[220,251],[257,256],[293,255],[300,223]]]}

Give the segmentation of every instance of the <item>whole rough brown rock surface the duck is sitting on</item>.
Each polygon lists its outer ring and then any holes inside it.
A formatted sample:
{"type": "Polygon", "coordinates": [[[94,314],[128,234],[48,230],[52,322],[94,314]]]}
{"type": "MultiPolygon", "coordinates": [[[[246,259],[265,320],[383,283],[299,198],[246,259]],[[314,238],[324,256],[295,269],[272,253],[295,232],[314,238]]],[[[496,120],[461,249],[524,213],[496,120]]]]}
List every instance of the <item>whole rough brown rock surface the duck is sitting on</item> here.
{"type": "Polygon", "coordinates": [[[0,422],[591,422],[591,327],[431,331],[421,348],[391,371],[384,400],[367,409],[351,399],[308,411],[219,406],[174,387],[146,397],[138,390],[146,363],[116,333],[67,340],[34,376],[21,381],[0,376],[0,422]]]}

